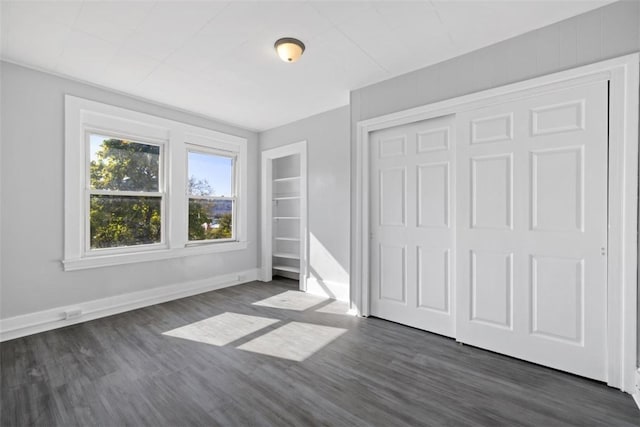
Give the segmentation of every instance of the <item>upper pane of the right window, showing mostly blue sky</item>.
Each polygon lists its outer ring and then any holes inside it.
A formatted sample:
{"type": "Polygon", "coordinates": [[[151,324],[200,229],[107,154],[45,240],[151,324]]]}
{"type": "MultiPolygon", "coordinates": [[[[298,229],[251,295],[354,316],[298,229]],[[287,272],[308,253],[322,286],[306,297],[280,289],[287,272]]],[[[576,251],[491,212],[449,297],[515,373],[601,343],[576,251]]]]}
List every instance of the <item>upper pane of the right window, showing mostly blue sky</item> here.
{"type": "Polygon", "coordinates": [[[189,194],[232,197],[233,158],[189,151],[189,194]]]}

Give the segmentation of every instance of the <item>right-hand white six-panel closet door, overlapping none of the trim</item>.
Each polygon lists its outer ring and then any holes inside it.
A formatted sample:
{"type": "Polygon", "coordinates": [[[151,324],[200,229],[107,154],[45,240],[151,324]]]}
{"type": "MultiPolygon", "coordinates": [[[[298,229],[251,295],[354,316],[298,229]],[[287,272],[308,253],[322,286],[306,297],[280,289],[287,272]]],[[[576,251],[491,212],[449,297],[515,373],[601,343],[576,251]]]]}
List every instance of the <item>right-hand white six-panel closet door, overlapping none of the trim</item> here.
{"type": "Polygon", "coordinates": [[[457,116],[457,339],[605,380],[605,82],[457,116]]]}

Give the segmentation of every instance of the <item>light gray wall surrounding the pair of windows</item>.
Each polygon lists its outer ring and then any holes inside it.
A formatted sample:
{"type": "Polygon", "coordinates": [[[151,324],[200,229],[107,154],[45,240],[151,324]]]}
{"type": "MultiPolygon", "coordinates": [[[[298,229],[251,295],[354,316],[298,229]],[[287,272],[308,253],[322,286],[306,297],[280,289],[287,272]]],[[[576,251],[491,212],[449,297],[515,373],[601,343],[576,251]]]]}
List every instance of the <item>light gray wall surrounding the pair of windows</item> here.
{"type": "Polygon", "coordinates": [[[257,135],[17,65],[0,63],[0,318],[257,267],[257,135]],[[62,271],[64,95],[117,105],[248,139],[246,250],[91,270],[62,271]],[[7,185],[12,183],[12,185],[7,185]]]}

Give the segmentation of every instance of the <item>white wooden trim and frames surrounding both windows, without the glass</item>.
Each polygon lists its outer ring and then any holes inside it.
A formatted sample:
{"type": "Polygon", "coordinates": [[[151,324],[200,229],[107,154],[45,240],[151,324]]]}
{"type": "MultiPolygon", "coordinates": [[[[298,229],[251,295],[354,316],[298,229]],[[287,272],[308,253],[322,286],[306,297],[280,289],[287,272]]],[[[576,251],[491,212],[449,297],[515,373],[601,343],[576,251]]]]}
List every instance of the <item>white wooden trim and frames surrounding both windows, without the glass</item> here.
{"type": "Polygon", "coordinates": [[[247,140],[113,105],[65,96],[65,271],[165,260],[247,248],[247,140]],[[122,135],[162,144],[164,192],[162,243],[105,251],[86,250],[86,131],[122,135]],[[235,239],[188,241],[186,153],[189,146],[221,150],[236,156],[235,239]]]}

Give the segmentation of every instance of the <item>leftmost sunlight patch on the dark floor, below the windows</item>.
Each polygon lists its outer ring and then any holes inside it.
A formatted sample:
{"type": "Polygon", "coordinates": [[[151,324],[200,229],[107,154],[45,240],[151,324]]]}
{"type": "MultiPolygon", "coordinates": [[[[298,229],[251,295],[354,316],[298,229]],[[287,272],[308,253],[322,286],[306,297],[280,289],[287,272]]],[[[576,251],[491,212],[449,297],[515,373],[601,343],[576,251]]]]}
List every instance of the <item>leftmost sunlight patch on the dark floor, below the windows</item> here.
{"type": "Polygon", "coordinates": [[[164,332],[162,335],[224,346],[278,322],[277,319],[267,317],[222,313],[164,332]]]}

